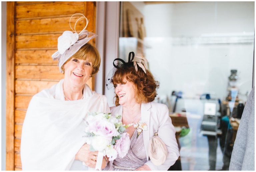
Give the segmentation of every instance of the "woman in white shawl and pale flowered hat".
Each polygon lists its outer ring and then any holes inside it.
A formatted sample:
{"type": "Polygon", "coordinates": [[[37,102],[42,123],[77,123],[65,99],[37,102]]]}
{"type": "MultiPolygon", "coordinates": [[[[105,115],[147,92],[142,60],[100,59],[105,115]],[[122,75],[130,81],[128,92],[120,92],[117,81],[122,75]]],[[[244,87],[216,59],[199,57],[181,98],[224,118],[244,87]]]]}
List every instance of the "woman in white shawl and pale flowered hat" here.
{"type": "MultiPolygon", "coordinates": [[[[34,95],[29,103],[21,136],[23,170],[95,168],[98,152],[85,144],[84,119],[88,112],[110,111],[106,97],[86,84],[100,66],[98,50],[88,43],[96,36],[84,28],[79,34],[65,31],[58,38],[52,58],[59,60],[64,79],[34,95]]],[[[104,157],[102,168],[106,163],[104,157]]]]}

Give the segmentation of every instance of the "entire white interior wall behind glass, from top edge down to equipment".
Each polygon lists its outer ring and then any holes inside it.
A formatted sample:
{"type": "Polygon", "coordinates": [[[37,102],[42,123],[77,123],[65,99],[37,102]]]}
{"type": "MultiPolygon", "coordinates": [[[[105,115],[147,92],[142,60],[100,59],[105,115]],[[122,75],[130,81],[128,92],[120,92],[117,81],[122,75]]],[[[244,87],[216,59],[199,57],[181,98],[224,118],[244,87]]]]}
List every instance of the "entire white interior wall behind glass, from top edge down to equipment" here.
{"type": "Polygon", "coordinates": [[[145,54],[150,71],[160,81],[159,96],[176,90],[198,98],[213,91],[224,99],[231,69],[238,70],[240,93],[250,92],[254,2],[132,4],[145,18],[144,42],[151,47],[145,54]]]}

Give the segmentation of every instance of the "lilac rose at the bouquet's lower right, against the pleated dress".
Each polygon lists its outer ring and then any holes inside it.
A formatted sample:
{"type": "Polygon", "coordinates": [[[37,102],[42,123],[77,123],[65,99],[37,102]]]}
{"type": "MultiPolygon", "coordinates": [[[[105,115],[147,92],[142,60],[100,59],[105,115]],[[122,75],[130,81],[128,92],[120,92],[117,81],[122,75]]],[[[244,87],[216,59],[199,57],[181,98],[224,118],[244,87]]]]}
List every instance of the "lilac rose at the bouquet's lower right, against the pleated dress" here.
{"type": "Polygon", "coordinates": [[[122,137],[116,141],[114,148],[121,158],[125,157],[125,155],[128,153],[128,150],[130,148],[129,134],[123,133],[122,137]]]}

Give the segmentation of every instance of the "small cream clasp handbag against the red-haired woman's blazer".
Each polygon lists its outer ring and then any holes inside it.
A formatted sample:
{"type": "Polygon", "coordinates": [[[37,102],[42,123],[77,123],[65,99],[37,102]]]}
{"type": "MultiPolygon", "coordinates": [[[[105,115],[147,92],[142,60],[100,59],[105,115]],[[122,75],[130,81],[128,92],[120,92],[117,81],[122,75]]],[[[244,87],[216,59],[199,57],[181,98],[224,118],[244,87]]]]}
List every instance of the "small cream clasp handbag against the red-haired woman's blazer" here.
{"type": "Polygon", "coordinates": [[[148,154],[152,163],[157,166],[162,165],[168,155],[167,148],[157,133],[150,139],[148,154]]]}

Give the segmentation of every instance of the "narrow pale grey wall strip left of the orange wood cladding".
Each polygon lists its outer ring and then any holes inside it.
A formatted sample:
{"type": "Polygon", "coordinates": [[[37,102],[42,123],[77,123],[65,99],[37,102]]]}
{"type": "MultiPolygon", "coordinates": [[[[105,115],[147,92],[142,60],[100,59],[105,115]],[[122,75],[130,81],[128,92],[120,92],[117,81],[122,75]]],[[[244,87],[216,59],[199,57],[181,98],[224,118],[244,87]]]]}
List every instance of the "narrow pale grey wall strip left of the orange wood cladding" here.
{"type": "Polygon", "coordinates": [[[1,11],[2,11],[2,35],[1,35],[1,44],[2,44],[2,49],[1,49],[1,79],[2,79],[2,84],[1,84],[1,136],[2,136],[2,142],[1,142],[1,170],[5,170],[5,164],[6,164],[6,155],[5,155],[5,150],[6,150],[6,8],[7,8],[7,3],[6,2],[1,2],[1,11]]]}

